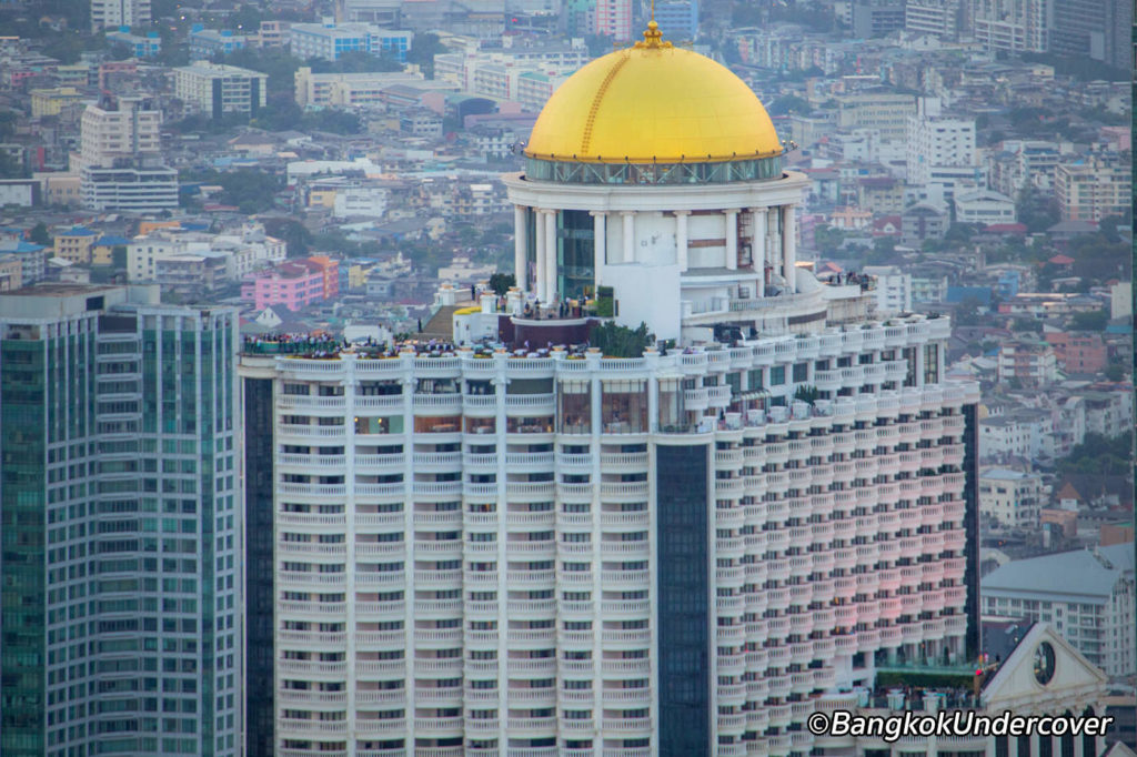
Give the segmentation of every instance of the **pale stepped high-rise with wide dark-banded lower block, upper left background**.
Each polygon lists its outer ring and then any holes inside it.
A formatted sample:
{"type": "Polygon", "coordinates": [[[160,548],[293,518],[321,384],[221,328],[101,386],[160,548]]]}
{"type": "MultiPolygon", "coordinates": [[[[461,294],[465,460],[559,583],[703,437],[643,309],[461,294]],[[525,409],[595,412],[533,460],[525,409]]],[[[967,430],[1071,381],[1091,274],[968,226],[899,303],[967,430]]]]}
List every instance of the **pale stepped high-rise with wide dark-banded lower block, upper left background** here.
{"type": "Polygon", "coordinates": [[[83,207],[92,210],[156,211],[177,207],[177,172],[161,163],[161,111],[141,98],[88,106],[81,123],[80,174],[83,207]]]}

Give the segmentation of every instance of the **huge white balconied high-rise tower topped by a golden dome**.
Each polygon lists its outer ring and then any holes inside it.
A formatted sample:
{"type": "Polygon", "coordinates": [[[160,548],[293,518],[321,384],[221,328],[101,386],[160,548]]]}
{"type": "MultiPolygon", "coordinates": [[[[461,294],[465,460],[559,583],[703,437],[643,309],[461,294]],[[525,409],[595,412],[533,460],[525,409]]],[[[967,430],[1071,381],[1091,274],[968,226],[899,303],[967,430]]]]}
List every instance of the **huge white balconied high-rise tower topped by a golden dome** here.
{"type": "Polygon", "coordinates": [[[749,88],[649,25],[505,177],[504,310],[440,291],[470,343],[249,344],[277,754],[806,754],[822,692],[978,651],[977,390],[946,318],[870,322],[796,265],[781,161],[749,88]],[[583,297],[674,346],[572,347],[583,297]]]}

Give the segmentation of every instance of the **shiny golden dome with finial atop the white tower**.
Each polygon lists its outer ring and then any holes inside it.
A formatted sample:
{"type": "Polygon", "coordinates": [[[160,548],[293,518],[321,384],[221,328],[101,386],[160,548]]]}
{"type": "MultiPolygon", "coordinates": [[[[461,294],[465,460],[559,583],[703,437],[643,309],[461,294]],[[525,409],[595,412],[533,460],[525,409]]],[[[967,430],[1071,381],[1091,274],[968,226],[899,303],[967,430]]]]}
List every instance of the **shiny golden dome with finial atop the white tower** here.
{"type": "Polygon", "coordinates": [[[525,155],[581,163],[704,163],[780,155],[766,109],[724,66],[659,41],[591,61],[538,116],[525,155]]]}

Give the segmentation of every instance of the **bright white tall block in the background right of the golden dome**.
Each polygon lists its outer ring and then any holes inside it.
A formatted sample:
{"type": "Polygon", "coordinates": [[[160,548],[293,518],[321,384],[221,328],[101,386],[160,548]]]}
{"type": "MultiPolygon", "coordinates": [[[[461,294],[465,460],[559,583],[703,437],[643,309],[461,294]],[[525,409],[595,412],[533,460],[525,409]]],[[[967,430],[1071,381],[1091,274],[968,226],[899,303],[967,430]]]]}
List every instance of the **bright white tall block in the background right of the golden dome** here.
{"type": "Polygon", "coordinates": [[[919,98],[908,118],[907,150],[908,184],[930,184],[936,176],[955,177],[961,170],[964,178],[973,176],[976,122],[941,115],[939,98],[919,98]]]}

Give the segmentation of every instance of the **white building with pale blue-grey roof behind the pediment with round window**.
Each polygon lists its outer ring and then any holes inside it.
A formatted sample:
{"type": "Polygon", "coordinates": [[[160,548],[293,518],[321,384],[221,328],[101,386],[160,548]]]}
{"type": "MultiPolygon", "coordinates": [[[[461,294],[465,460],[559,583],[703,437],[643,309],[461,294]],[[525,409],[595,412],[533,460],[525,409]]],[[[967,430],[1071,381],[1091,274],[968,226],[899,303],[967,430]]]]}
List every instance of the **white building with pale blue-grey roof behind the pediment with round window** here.
{"type": "Polygon", "coordinates": [[[1131,676],[1132,543],[1015,560],[984,577],[985,614],[1049,623],[1110,676],[1131,676]]]}

